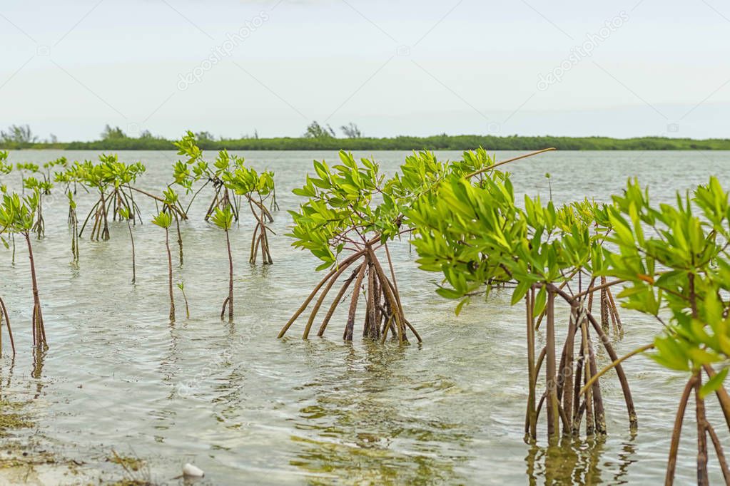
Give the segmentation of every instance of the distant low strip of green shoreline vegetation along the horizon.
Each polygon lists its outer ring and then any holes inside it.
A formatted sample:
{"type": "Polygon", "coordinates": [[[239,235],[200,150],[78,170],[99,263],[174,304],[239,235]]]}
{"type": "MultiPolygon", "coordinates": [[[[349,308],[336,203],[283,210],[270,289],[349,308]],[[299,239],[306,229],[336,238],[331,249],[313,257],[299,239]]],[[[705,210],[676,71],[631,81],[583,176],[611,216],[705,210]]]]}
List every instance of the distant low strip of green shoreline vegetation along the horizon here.
{"type": "MultiPolygon", "coordinates": [[[[341,127],[343,136],[336,136],[328,125],[312,122],[301,137],[261,138],[258,133],[241,138],[221,138],[209,132],[196,133],[204,150],[468,150],[476,146],[489,150],[537,150],[552,146],[558,150],[730,150],[730,138],[610,138],[601,136],[493,136],[441,135],[418,137],[366,137],[357,125],[341,127]]],[[[55,136],[41,140],[28,125],[11,125],[0,131],[0,149],[61,150],[176,150],[174,140],[143,131],[129,136],[121,128],[107,125],[95,141],[61,142],[55,136]]]]}

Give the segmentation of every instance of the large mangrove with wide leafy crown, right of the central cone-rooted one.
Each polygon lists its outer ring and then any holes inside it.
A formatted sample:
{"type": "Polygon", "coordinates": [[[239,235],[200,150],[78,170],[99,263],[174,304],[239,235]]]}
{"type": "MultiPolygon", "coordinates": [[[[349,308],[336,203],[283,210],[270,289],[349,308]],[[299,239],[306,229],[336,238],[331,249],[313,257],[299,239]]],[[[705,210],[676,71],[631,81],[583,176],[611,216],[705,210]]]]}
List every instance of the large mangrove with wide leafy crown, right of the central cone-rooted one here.
{"type": "MultiPolygon", "coordinates": [[[[496,166],[496,165],[495,165],[496,166]]],[[[604,404],[598,380],[591,396],[575,399],[575,387],[584,375],[596,374],[590,332],[596,332],[612,358],[609,340],[585,307],[583,289],[574,294],[569,281],[582,273],[601,270],[597,258],[602,240],[591,235],[591,228],[605,226],[606,210],[594,203],[580,203],[557,209],[539,198],[525,198],[525,208],[515,205],[512,184],[504,173],[488,174],[482,180],[452,175],[439,184],[437,194],[421,197],[407,213],[418,238],[413,244],[423,270],[442,272],[449,286],[438,293],[462,299],[457,312],[469,297],[497,287],[512,286],[512,304],[526,300],[529,396],[526,412],[526,440],[537,439],[537,423],[545,407],[548,442],[561,435],[577,436],[585,415],[586,435],[605,434],[604,404]],[[589,218],[577,217],[580,211],[589,218]],[[478,222],[475,224],[475,222],[478,222]],[[483,289],[483,290],[482,290],[483,289]],[[566,341],[560,352],[556,343],[556,298],[570,307],[566,341]],[[545,347],[535,358],[537,316],[545,311],[545,347]],[[592,329],[591,329],[592,328],[592,329]],[[578,338],[580,334],[580,339],[578,338]],[[575,342],[579,358],[575,360],[575,342]],[[537,377],[545,369],[545,392],[537,394],[537,377]],[[574,383],[575,382],[575,385],[574,383]],[[537,401],[537,403],[536,403],[537,401]],[[562,434],[561,434],[562,429],[562,434]]],[[[631,391],[619,364],[616,368],[623,391],[630,427],[637,419],[631,391]]]]}

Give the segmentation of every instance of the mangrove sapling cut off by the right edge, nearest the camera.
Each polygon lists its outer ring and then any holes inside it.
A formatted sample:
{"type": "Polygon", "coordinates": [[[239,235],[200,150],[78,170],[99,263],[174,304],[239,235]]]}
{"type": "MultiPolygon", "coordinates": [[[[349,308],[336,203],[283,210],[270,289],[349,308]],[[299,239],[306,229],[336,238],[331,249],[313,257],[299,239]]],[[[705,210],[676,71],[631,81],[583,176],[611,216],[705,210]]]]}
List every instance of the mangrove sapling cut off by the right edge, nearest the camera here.
{"type": "MultiPolygon", "coordinates": [[[[675,205],[650,205],[648,190],[629,181],[621,196],[614,196],[609,217],[614,232],[609,238],[618,248],[602,248],[602,275],[629,284],[618,298],[624,307],[653,315],[663,332],[653,345],[623,358],[611,356],[618,367],[628,356],[655,348],[651,357],[662,366],[688,373],[675,416],[666,485],[675,479],[677,454],[685,411],[694,397],[697,425],[697,483],[707,485],[708,450],[730,484],[730,469],[712,424],[705,398],[715,393],[730,430],[730,396],[723,385],[730,360],[730,204],[729,193],[718,179],[710,178],[692,197],[677,195],[675,205]],[[650,232],[647,230],[651,230],[650,232]],[[666,323],[660,317],[669,313],[666,323]],[[721,366],[716,371],[716,366],[721,366]],[[704,381],[704,378],[707,381],[704,381]],[[708,438],[710,439],[708,442],[708,438]]],[[[600,373],[599,373],[600,375],[600,373]]],[[[587,385],[584,387],[588,388],[587,385]]]]}

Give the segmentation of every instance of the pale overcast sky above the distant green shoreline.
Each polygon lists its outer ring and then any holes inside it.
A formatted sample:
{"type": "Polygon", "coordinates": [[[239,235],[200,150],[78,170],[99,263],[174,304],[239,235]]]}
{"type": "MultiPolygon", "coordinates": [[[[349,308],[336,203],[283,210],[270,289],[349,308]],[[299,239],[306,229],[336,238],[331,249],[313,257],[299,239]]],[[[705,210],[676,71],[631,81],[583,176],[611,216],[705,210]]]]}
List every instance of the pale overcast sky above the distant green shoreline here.
{"type": "Polygon", "coordinates": [[[0,0],[0,128],[730,137],[721,0],[0,0]]]}

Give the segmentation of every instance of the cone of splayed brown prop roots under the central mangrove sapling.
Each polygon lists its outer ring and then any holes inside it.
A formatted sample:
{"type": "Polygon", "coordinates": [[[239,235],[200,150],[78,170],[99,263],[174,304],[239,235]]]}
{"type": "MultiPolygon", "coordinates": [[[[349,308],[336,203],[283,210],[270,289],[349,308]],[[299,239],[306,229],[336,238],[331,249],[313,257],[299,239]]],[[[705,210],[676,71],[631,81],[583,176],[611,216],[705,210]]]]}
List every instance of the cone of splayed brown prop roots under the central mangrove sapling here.
{"type": "MultiPolygon", "coordinates": [[[[388,262],[390,262],[390,254],[388,254],[388,262]]],[[[322,281],[318,283],[309,297],[307,297],[304,301],[304,304],[299,307],[299,310],[297,310],[296,313],[292,315],[291,319],[289,319],[289,321],[285,324],[278,337],[283,337],[286,334],[294,321],[299,318],[299,315],[304,313],[304,310],[307,309],[307,306],[310,305],[310,302],[312,302],[319,293],[317,302],[310,312],[307,326],[305,326],[304,333],[302,334],[302,338],[307,339],[309,337],[310,330],[312,329],[312,324],[314,324],[315,318],[317,317],[320,307],[327,297],[328,292],[332,289],[334,283],[337,282],[339,277],[345,273],[345,270],[353,267],[355,264],[357,264],[355,270],[340,286],[339,292],[332,301],[329,310],[320,325],[317,335],[323,336],[334,311],[340,304],[342,304],[342,302],[344,302],[345,293],[354,282],[355,286],[353,287],[353,293],[350,297],[350,305],[347,312],[347,322],[342,334],[343,340],[353,340],[353,335],[355,334],[357,307],[361,300],[361,295],[364,294],[366,308],[363,337],[385,342],[388,337],[388,332],[390,332],[392,340],[398,340],[399,342],[404,343],[408,342],[408,329],[412,332],[418,342],[420,342],[421,339],[418,332],[415,331],[410,322],[408,322],[405,318],[395,281],[395,274],[392,272],[392,264],[390,266],[391,277],[389,278],[388,275],[385,275],[383,267],[380,265],[380,262],[370,245],[367,245],[363,250],[349,256],[347,259],[339,263],[339,267],[331,270],[327,275],[325,275],[322,281]],[[320,292],[320,289],[323,287],[324,289],[320,292]]]]}

